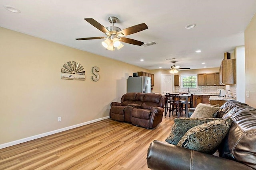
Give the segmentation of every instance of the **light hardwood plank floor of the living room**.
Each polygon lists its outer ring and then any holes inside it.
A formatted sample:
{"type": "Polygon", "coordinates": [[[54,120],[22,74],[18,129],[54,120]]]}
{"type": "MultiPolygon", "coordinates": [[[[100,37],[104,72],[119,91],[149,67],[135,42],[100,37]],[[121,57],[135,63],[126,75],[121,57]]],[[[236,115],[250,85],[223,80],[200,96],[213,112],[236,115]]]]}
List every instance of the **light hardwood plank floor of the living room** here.
{"type": "Polygon", "coordinates": [[[176,116],[154,129],[106,119],[0,149],[0,170],[147,170],[147,150],[164,141],[176,116]]]}

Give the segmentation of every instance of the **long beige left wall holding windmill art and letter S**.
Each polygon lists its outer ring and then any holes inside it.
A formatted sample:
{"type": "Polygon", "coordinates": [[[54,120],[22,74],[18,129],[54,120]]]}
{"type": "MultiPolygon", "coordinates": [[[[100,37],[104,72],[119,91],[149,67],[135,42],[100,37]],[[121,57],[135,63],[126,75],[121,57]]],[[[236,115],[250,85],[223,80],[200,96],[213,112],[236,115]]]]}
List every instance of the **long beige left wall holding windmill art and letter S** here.
{"type": "Polygon", "coordinates": [[[107,117],[132,72],[149,72],[1,27],[0,37],[0,145],[107,117]],[[68,61],[84,67],[85,81],[60,79],[68,61]],[[98,82],[91,80],[93,66],[100,68],[98,82]]]}

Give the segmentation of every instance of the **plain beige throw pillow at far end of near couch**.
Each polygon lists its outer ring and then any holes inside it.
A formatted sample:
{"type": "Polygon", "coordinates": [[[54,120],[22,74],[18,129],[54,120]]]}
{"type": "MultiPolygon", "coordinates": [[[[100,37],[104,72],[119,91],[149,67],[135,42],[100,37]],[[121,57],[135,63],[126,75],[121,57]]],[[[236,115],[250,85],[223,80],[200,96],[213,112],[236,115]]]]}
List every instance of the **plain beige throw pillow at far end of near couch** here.
{"type": "Polygon", "coordinates": [[[206,117],[214,118],[214,114],[220,109],[220,107],[210,106],[209,104],[198,104],[194,113],[190,117],[206,117]]]}

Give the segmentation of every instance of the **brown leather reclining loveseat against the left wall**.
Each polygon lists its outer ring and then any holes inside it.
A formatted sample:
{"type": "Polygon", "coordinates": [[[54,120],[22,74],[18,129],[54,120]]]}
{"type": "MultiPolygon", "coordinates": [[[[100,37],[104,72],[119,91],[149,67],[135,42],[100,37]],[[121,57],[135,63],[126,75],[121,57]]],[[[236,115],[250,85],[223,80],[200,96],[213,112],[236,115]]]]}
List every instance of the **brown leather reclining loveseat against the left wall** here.
{"type": "Polygon", "coordinates": [[[164,113],[165,96],[153,93],[127,93],[121,102],[110,104],[110,118],[116,121],[152,129],[161,121],[164,113]]]}

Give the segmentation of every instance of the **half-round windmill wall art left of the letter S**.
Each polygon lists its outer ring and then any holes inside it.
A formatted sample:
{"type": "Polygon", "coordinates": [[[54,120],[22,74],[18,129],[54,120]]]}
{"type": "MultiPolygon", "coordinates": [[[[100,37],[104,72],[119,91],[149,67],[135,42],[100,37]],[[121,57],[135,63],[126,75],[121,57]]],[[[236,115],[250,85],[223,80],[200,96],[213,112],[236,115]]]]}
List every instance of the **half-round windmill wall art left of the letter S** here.
{"type": "Polygon", "coordinates": [[[84,67],[77,63],[76,61],[69,61],[67,64],[63,65],[64,68],[61,68],[61,79],[66,80],[85,80],[85,71],[84,67]]]}

